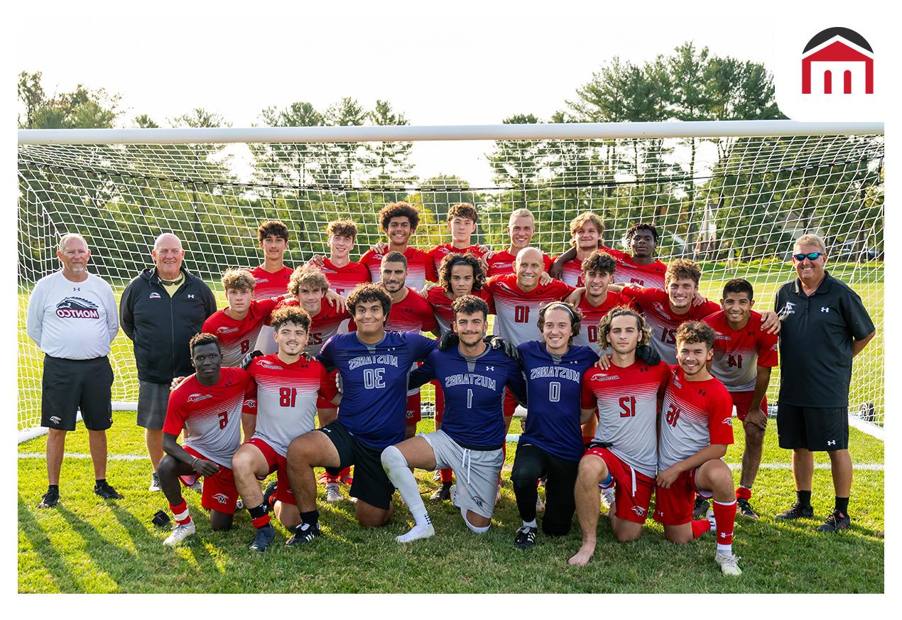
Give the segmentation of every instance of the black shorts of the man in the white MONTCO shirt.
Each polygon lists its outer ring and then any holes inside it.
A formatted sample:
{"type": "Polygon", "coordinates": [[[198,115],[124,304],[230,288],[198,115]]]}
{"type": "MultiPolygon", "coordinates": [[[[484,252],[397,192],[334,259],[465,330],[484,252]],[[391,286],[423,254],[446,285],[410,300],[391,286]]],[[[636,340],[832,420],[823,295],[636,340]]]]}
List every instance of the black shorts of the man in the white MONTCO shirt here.
{"type": "Polygon", "coordinates": [[[109,359],[63,359],[44,356],[41,380],[41,426],[75,430],[76,410],[87,430],[113,425],[111,390],[113,368],[109,359]]]}

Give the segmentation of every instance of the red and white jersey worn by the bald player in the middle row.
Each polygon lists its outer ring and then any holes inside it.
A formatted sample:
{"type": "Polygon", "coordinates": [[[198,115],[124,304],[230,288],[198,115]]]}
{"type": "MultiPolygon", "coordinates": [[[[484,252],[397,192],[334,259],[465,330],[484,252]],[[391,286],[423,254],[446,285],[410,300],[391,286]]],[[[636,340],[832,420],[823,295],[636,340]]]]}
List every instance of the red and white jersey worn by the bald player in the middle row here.
{"type": "Polygon", "coordinates": [[[489,278],[485,288],[492,293],[495,302],[495,332],[514,346],[529,340],[541,340],[538,310],[551,301],[563,300],[574,291],[574,287],[560,280],[552,280],[524,292],[517,285],[517,276],[513,273],[489,278]]]}

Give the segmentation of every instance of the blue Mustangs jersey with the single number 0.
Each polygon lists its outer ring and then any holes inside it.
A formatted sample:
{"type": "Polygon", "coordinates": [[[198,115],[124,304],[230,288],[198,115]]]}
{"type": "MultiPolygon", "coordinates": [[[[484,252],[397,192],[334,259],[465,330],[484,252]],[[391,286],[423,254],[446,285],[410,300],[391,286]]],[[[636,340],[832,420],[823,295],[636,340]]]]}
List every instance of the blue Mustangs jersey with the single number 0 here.
{"type": "Polygon", "coordinates": [[[583,373],[598,361],[589,347],[548,353],[544,342],[524,342],[520,364],[526,375],[529,412],[520,443],[531,443],[558,458],[579,460],[585,451],[579,423],[583,373]]]}

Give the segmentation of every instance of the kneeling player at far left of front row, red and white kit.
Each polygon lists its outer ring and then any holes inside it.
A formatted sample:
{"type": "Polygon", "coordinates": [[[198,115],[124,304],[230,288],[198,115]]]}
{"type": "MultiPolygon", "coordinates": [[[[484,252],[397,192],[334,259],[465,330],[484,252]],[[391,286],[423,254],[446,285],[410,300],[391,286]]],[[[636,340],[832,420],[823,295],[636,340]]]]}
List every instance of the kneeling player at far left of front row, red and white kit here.
{"type": "Polygon", "coordinates": [[[175,527],[163,544],[174,545],[195,532],[188,504],[181,496],[179,478],[191,486],[204,477],[200,505],[210,511],[210,526],[228,530],[235,516],[238,490],[232,457],[241,444],[241,419],[246,397],[253,396],[251,376],[241,368],[222,367],[219,341],[200,333],[189,342],[196,372],[170,393],[163,422],[163,450],[157,473],[175,517],[175,527]],[[184,446],[176,439],[188,427],[184,446]]]}

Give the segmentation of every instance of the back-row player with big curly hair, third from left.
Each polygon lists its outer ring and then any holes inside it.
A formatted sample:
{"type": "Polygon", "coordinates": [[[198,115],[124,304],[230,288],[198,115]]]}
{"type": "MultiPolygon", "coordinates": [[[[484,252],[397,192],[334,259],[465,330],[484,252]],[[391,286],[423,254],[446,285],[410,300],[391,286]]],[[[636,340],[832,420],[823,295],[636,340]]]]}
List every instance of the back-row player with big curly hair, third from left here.
{"type": "Polygon", "coordinates": [[[379,212],[382,232],[388,236],[388,245],[374,245],[360,257],[360,263],[370,270],[373,282],[379,282],[382,272],[382,257],[389,252],[400,252],[408,264],[407,285],[421,291],[426,281],[436,282],[436,264],[426,252],[410,247],[410,236],[419,225],[419,210],[406,202],[392,202],[379,212]]]}

